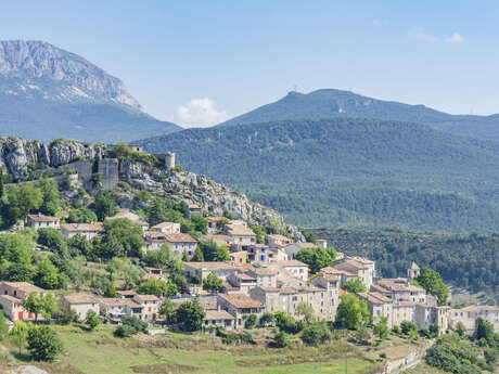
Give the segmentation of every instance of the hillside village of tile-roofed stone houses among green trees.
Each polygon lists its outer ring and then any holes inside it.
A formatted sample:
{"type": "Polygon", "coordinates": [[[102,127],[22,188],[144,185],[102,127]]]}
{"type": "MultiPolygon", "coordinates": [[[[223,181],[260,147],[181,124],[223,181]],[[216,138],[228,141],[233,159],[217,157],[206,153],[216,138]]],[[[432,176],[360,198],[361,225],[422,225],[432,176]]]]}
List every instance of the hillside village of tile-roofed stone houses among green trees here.
{"type": "Polygon", "coordinates": [[[499,331],[499,308],[452,308],[439,275],[415,262],[405,278],[383,278],[375,261],[336,252],[273,214],[258,221],[250,210],[238,216],[205,204],[214,199],[203,201],[205,190],[185,179],[176,191],[169,180],[189,173],[175,154],[144,172],[152,155],[140,147],[113,145],[106,153],[114,158],[98,160],[104,178],[89,176],[93,162],[85,157],[65,165],[69,173],[60,169],[4,188],[2,176],[2,219],[11,227],[0,236],[0,306],[10,330],[23,322],[94,321],[115,325],[116,336],[201,330],[242,339],[248,328],[296,333],[324,323],[436,337],[472,336],[486,321],[499,331]],[[163,176],[161,184],[151,176],[163,176]],[[12,220],[26,193],[40,193],[40,202],[12,220]]]}

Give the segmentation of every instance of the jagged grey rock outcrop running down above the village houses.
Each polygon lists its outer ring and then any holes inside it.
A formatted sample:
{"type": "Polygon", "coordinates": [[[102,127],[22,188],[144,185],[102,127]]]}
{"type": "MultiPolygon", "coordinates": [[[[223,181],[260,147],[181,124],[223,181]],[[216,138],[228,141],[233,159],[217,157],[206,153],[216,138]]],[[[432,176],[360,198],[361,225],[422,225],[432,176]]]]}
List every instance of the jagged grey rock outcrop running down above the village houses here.
{"type": "MultiPolygon", "coordinates": [[[[89,182],[93,173],[102,173],[101,185],[115,190],[116,203],[123,208],[144,208],[146,203],[133,198],[130,191],[118,186],[126,182],[135,191],[146,190],[187,204],[197,204],[214,216],[231,212],[241,219],[265,227],[274,227],[303,241],[298,228],[284,221],[276,210],[251,202],[243,193],[231,191],[209,178],[190,171],[167,169],[161,160],[145,154],[131,158],[112,158],[101,144],[57,140],[51,144],[21,138],[0,138],[0,167],[15,179],[35,172],[78,172],[80,182],[89,182]],[[155,160],[155,162],[154,162],[155,160]],[[112,166],[116,165],[115,168],[112,166]],[[106,172],[102,172],[105,170],[106,172]]],[[[91,188],[87,184],[87,189],[91,188]]]]}

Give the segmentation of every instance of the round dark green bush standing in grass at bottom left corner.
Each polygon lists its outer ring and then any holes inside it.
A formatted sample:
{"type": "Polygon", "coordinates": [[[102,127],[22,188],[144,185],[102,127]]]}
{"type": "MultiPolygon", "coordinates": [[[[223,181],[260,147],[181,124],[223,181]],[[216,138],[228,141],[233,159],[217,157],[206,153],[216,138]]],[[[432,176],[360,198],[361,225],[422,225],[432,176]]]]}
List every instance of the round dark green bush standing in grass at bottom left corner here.
{"type": "Polygon", "coordinates": [[[27,341],[29,352],[36,361],[53,361],[63,349],[61,338],[46,325],[30,327],[27,341]]]}

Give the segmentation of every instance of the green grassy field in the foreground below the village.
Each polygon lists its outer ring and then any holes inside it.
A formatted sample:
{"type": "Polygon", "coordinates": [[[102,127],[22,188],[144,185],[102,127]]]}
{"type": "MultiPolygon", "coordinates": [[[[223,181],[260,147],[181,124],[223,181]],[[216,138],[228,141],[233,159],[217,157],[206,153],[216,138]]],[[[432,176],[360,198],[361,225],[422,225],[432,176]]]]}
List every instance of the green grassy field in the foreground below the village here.
{"type": "MultiPolygon", "coordinates": [[[[64,343],[60,361],[31,363],[51,374],[341,374],[345,372],[345,358],[349,374],[370,374],[380,367],[344,341],[320,348],[268,349],[227,346],[206,335],[168,334],[157,338],[142,335],[119,339],[105,326],[91,333],[78,326],[53,327],[64,343]]],[[[2,344],[12,362],[27,363],[27,357],[20,356],[15,346],[9,341],[2,344]]],[[[4,372],[1,364],[0,372],[4,372]]]]}

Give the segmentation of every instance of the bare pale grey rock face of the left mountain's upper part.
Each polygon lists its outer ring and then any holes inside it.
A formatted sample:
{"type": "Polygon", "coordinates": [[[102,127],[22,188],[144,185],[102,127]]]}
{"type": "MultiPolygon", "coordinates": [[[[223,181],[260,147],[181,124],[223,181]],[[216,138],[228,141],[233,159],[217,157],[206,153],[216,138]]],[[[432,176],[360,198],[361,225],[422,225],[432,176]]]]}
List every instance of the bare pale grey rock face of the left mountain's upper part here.
{"type": "Polygon", "coordinates": [[[140,108],[121,80],[79,55],[43,41],[0,41],[0,77],[2,81],[9,80],[2,93],[11,95],[41,95],[64,102],[111,101],[140,108]]]}

